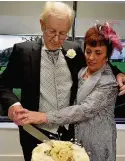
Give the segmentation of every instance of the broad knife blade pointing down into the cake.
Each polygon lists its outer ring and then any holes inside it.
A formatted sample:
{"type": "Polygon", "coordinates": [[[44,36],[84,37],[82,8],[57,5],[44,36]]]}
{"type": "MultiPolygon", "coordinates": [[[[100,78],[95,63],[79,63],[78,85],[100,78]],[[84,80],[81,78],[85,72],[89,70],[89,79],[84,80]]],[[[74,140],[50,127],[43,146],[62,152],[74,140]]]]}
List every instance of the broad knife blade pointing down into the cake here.
{"type": "Polygon", "coordinates": [[[23,129],[27,131],[29,134],[34,136],[36,139],[44,142],[44,141],[50,141],[50,139],[44,135],[42,132],[37,130],[35,127],[33,127],[31,124],[23,125],[23,129]]]}

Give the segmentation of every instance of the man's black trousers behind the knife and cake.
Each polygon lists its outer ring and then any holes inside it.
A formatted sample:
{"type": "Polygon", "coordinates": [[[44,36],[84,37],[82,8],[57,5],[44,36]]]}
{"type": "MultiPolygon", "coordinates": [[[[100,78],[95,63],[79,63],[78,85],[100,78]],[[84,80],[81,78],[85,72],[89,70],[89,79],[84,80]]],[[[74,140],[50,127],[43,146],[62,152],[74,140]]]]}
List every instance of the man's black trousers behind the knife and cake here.
{"type": "MultiPolygon", "coordinates": [[[[45,134],[50,139],[69,141],[72,138],[74,138],[74,128],[73,127],[71,127],[69,130],[66,130],[65,127],[60,126],[58,129],[58,134],[53,134],[43,129],[38,129],[38,130],[41,131],[43,134],[45,134]]],[[[34,138],[28,132],[23,130],[22,127],[19,127],[19,132],[20,132],[20,143],[22,146],[24,159],[25,161],[31,161],[32,150],[37,146],[37,144],[40,144],[41,141],[34,138]]]]}

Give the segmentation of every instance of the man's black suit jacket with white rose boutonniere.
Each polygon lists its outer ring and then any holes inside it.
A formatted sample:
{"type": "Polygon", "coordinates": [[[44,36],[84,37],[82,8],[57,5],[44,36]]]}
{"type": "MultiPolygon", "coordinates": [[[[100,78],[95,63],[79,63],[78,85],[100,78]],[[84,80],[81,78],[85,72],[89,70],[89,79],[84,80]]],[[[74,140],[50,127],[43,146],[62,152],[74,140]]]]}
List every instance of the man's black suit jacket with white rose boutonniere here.
{"type": "MultiPolygon", "coordinates": [[[[41,39],[31,42],[15,44],[6,70],[0,76],[0,103],[4,108],[9,108],[18,98],[12,93],[12,88],[21,88],[21,104],[24,108],[38,111],[40,95],[40,59],[41,39]]],[[[69,70],[72,75],[70,105],[76,97],[77,74],[85,66],[84,54],[75,42],[65,41],[62,46],[69,70]],[[74,49],[76,56],[71,59],[66,55],[68,49],[74,49]]]]}

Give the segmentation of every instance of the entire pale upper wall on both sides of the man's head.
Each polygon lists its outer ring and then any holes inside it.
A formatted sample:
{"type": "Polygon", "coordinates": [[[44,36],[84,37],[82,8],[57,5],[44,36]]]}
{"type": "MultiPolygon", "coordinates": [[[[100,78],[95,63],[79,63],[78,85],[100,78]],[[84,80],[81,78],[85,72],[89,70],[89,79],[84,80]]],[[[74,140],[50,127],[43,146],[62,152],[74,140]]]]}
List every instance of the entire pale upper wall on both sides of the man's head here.
{"type": "MultiPolygon", "coordinates": [[[[72,1],[66,2],[72,6],[72,1]]],[[[39,34],[39,15],[44,1],[0,1],[0,34],[39,34]]],[[[78,1],[76,36],[83,36],[95,20],[116,20],[114,25],[125,38],[125,2],[78,1]]]]}

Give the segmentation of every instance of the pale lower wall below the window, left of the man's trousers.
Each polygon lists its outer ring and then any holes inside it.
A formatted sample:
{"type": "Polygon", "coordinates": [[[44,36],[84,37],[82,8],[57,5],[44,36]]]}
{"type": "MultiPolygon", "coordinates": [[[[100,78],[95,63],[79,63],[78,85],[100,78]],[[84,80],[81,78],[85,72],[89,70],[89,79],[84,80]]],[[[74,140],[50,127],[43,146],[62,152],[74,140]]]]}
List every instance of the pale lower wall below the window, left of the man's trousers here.
{"type": "Polygon", "coordinates": [[[13,123],[0,123],[0,161],[24,161],[18,128],[13,123]]]}

